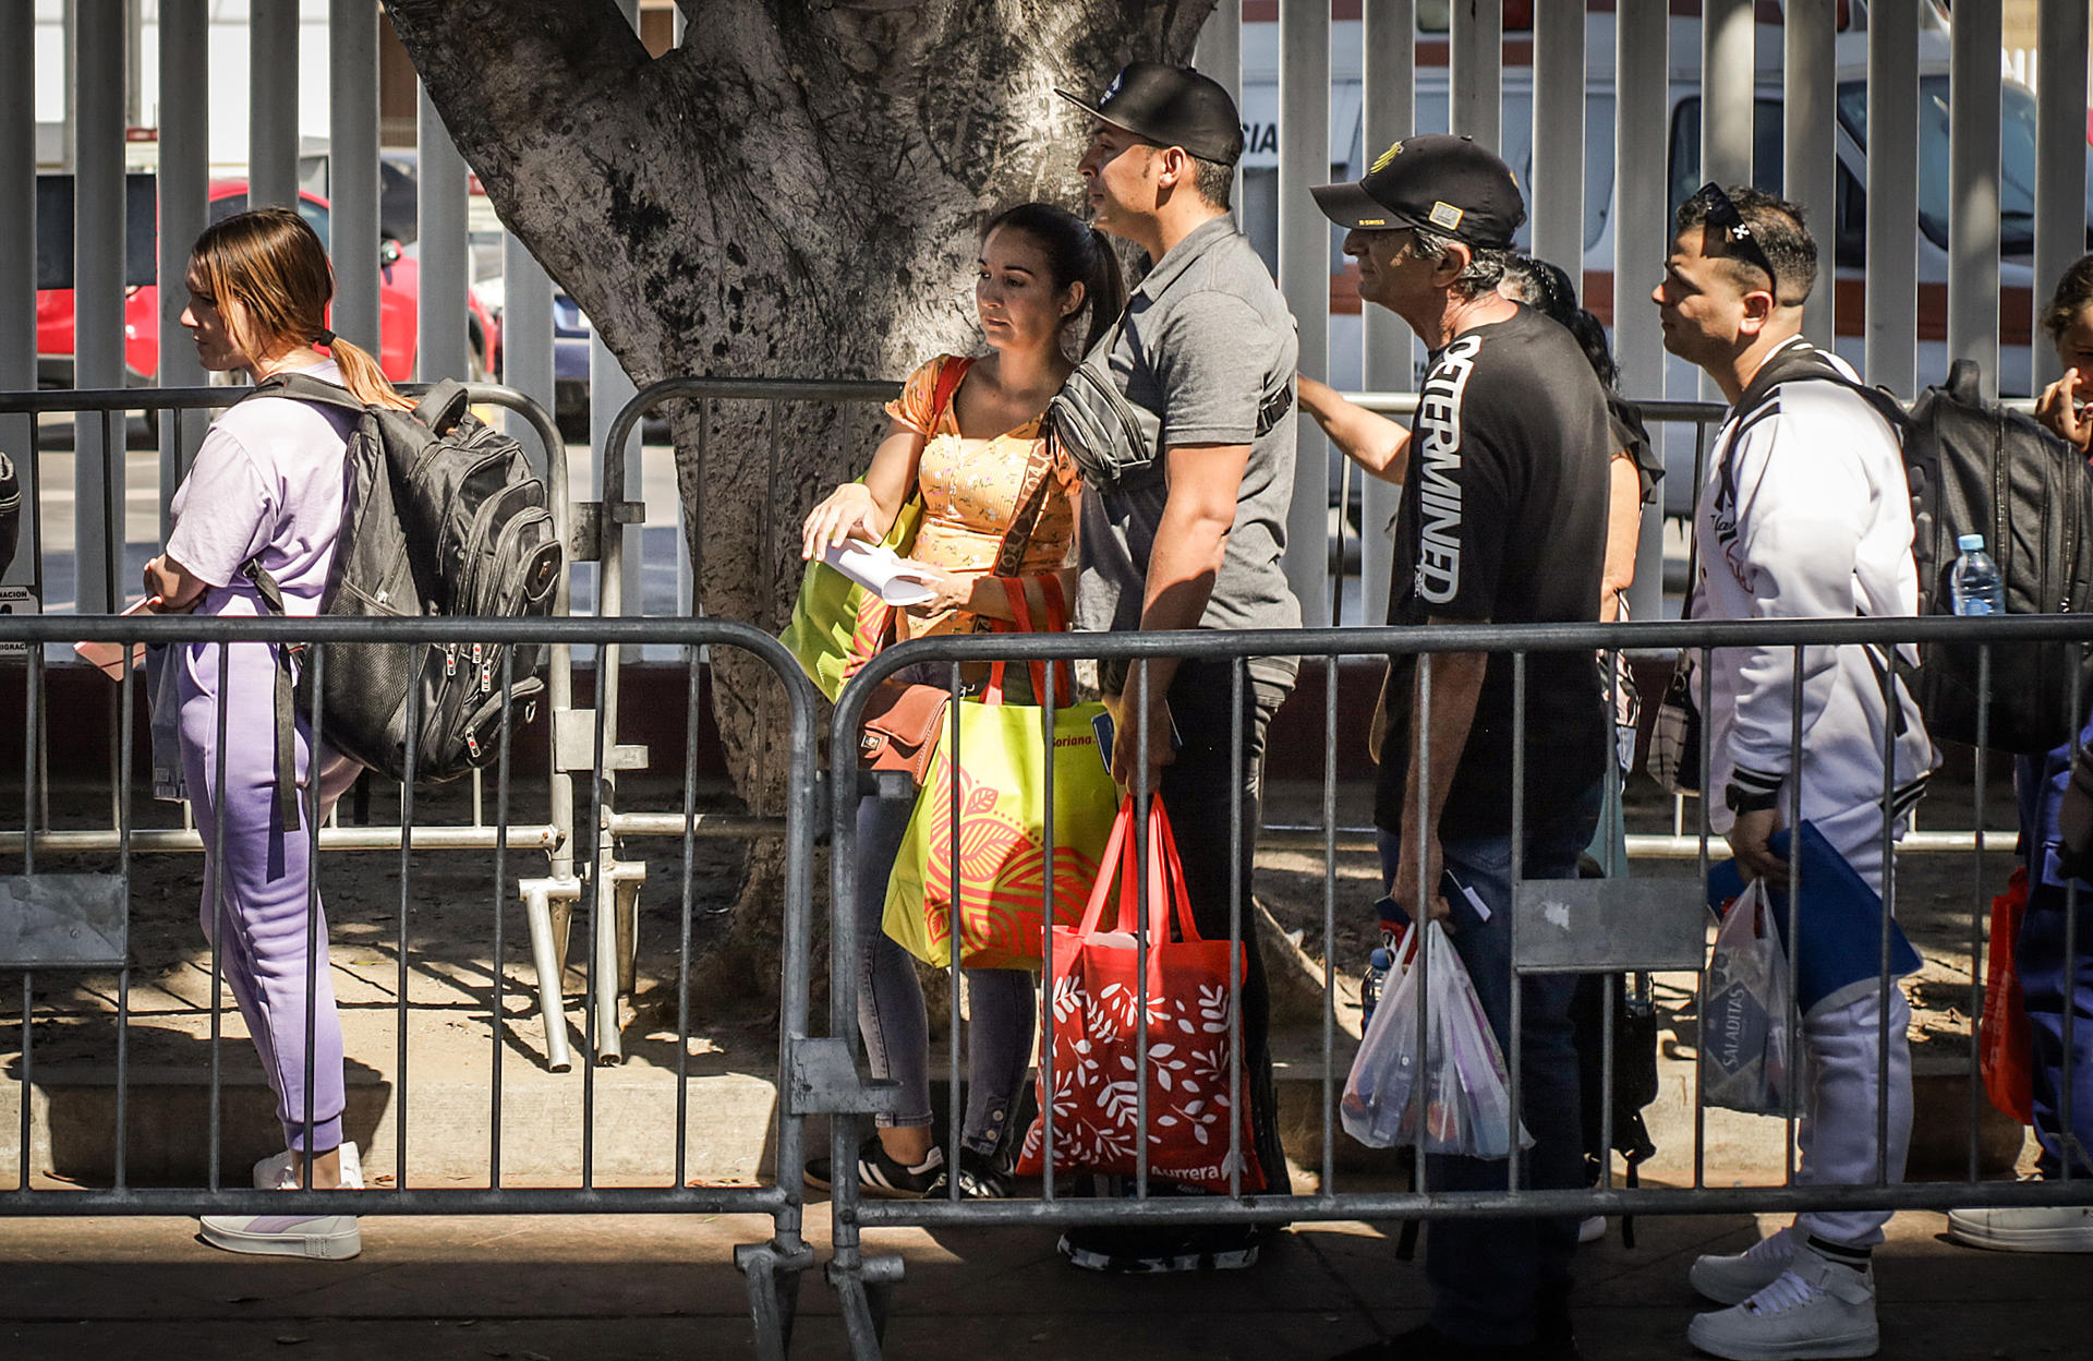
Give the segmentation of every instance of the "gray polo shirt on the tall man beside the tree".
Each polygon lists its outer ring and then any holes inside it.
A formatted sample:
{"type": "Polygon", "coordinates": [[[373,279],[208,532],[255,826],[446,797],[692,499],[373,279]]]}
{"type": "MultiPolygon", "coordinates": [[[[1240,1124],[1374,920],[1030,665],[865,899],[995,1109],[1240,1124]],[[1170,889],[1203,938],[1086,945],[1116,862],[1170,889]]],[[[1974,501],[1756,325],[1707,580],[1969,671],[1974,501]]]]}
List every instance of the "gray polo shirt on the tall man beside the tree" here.
{"type": "MultiPolygon", "coordinates": [[[[1256,433],[1264,398],[1281,387],[1291,398],[1298,356],[1293,314],[1250,237],[1229,216],[1203,222],[1170,247],[1126,310],[1111,373],[1126,398],[1155,417],[1157,448],[1250,446],[1235,528],[1199,628],[1298,628],[1302,622],[1281,567],[1293,503],[1291,400],[1268,431],[1256,433]]],[[[1149,546],[1168,496],[1162,456],[1118,486],[1084,486],[1076,628],[1141,628],[1149,546]]],[[[1252,676],[1287,687],[1293,670],[1293,657],[1250,664],[1252,676]]],[[[1107,689],[1116,689],[1109,676],[1107,689]]]]}

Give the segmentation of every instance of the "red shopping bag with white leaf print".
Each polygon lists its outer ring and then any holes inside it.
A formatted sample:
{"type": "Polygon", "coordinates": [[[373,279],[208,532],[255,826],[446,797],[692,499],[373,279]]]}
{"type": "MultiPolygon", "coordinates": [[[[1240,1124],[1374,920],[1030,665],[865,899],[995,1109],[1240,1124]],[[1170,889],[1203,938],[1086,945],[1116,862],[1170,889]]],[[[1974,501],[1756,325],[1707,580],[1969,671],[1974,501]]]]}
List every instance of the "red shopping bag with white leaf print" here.
{"type": "MultiPolygon", "coordinates": [[[[1136,1083],[1141,865],[1132,827],[1134,800],[1128,796],[1111,823],[1082,923],[1053,928],[1053,990],[1042,999],[1053,1091],[1042,1064],[1040,1110],[1053,1108],[1055,1173],[1134,1175],[1143,1129],[1136,1083]],[[1105,930],[1113,886],[1118,921],[1105,930]]],[[[1162,798],[1149,800],[1147,888],[1149,923],[1162,928],[1151,932],[1147,951],[1149,1175],[1226,1191],[1229,1173],[1239,1166],[1243,1191],[1262,1191],[1264,1170],[1250,1131],[1250,1074],[1239,1083],[1241,1110],[1231,1112],[1229,1093],[1233,1007],[1250,967],[1245,946],[1199,936],[1162,798]],[[1237,1131],[1239,1164],[1231,1164],[1231,1129],[1237,1131]]],[[[1017,1173],[1038,1177],[1044,1164],[1046,1126],[1034,1116],[1017,1173]]]]}

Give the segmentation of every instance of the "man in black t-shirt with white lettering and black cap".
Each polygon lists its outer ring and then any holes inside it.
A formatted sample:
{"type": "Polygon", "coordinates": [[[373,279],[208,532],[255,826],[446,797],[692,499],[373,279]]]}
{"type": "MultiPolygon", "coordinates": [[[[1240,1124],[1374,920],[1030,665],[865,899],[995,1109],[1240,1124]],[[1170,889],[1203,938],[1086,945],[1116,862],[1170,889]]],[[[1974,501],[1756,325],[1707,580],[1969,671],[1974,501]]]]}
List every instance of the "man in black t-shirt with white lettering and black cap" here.
{"type": "MultiPolygon", "coordinates": [[[[1528,624],[1599,618],[1607,463],[1605,389],[1553,320],[1496,295],[1526,218],[1511,170],[1469,138],[1396,142],[1356,184],[1314,191],[1350,228],[1358,295],[1425,341],[1406,448],[1388,618],[1392,624],[1528,624]]],[[[1375,821],[1390,894],[1442,919],[1499,1043],[1511,1032],[1511,756],[1520,739],[1509,655],[1392,660],[1375,821]],[[1430,704],[1419,685],[1430,674],[1430,704]],[[1430,743],[1413,741],[1423,727],[1430,743]],[[1386,833],[1392,833],[1386,835],[1386,833]]],[[[1593,651],[1526,662],[1522,875],[1574,877],[1599,817],[1605,710],[1593,651]]],[[[1522,1103],[1534,1187],[1582,1183],[1570,976],[1520,986],[1522,1103]]],[[[1507,1164],[1434,1156],[1436,1191],[1505,1189],[1507,1164]]],[[[1348,1357],[1574,1357],[1576,1219],[1432,1225],[1432,1321],[1348,1357]]]]}

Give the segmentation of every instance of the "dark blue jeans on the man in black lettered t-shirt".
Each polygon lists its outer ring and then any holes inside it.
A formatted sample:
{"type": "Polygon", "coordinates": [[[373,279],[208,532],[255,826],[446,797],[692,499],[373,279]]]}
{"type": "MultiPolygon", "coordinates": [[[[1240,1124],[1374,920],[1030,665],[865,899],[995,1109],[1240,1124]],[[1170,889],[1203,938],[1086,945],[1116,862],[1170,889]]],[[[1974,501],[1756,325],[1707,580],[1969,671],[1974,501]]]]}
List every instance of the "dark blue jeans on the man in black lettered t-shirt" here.
{"type": "MultiPolygon", "coordinates": [[[[1599,823],[1601,783],[1528,819],[1528,879],[1574,879],[1578,852],[1599,823]]],[[[1390,875],[1392,838],[1381,838],[1390,875]]],[[[1476,997],[1490,1018],[1496,1043],[1511,1057],[1511,833],[1471,835],[1440,844],[1446,869],[1476,890],[1488,919],[1461,894],[1448,894],[1450,940],[1467,967],[1476,997]]],[[[1520,1162],[1522,1185],[1555,1189],[1584,1185],[1584,1150],[1578,1116],[1578,1066],[1570,999],[1574,974],[1530,974],[1520,980],[1520,1116],[1534,1147],[1520,1162]]],[[[1503,1191],[1509,1164],[1486,1158],[1430,1156],[1434,1191],[1503,1191]]],[[[1547,1219],[1436,1219],[1425,1242],[1425,1279],[1432,1281],[1432,1325],[1469,1346],[1532,1342],[1540,1317],[1568,1307],[1570,1256],[1576,1252],[1576,1217],[1547,1219]]]]}

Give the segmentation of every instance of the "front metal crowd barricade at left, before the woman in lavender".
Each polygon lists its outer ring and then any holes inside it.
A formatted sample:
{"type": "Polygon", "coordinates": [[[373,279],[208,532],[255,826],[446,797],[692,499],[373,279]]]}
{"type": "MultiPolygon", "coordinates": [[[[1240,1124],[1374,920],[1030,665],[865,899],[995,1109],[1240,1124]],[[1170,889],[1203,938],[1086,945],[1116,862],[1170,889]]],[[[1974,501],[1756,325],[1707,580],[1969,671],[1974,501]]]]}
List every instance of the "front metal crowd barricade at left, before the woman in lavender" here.
{"type": "MultiPolygon", "coordinates": [[[[50,643],[73,643],[73,641],[100,641],[100,643],[121,643],[126,649],[134,643],[241,643],[241,641],[262,641],[262,643],[312,643],[308,653],[308,666],[324,674],[329,647],[335,643],[400,643],[408,647],[429,647],[437,643],[456,641],[456,620],[347,620],[347,618],[322,618],[322,620],[276,620],[276,618],[190,618],[190,616],[17,616],[0,618],[0,643],[25,643],[27,649],[27,693],[25,693],[25,727],[29,741],[25,745],[25,771],[23,771],[23,823],[25,827],[36,827],[40,821],[38,806],[38,783],[33,779],[33,760],[38,750],[38,727],[40,727],[40,706],[44,676],[44,655],[42,647],[50,643]]],[[[804,1043],[800,1036],[806,1034],[806,1013],[808,1013],[808,961],[810,961],[810,917],[812,917],[812,863],[814,863],[814,825],[816,825],[816,771],[814,771],[814,750],[816,750],[816,693],[808,685],[806,676],[793,657],[777,643],[777,639],[753,630],[745,624],[720,622],[720,620],[475,620],[471,624],[473,639],[494,643],[494,645],[517,645],[536,643],[550,645],[555,649],[571,649],[576,645],[640,645],[640,643],[666,643],[684,649],[687,666],[691,670],[691,704],[701,699],[699,691],[699,649],[743,649],[758,657],[783,687],[785,693],[785,727],[789,737],[787,760],[787,798],[785,810],[779,827],[779,835],[785,838],[785,882],[783,882],[783,902],[781,902],[781,984],[779,984],[779,1091],[789,1089],[787,1074],[797,1074],[800,1064],[804,1064],[804,1053],[797,1045],[804,1043]]],[[[220,714],[218,724],[224,731],[226,724],[226,676],[230,649],[220,649],[220,714]]],[[[502,666],[502,693],[519,680],[513,672],[513,653],[504,653],[502,666]]],[[[140,680],[126,670],[119,683],[119,708],[128,720],[138,699],[140,680]]],[[[412,718],[414,699],[410,697],[408,710],[408,733],[417,731],[412,718]]],[[[117,750],[117,827],[115,840],[109,850],[117,852],[115,875],[50,875],[38,873],[38,856],[50,850],[77,850],[65,842],[50,842],[44,835],[23,833],[13,840],[13,850],[21,854],[23,873],[13,879],[0,879],[0,902],[6,902],[13,919],[4,921],[6,930],[0,930],[0,972],[17,974],[21,978],[21,1066],[19,1066],[19,1093],[21,1093],[21,1122],[19,1122],[19,1179],[10,1189],[0,1189],[0,1214],[278,1214],[287,1208],[285,1196],[297,1196],[297,1208],[301,1212],[316,1214],[544,1214],[544,1212],[645,1212],[645,1214],[666,1214],[666,1212],[697,1212],[697,1214],[768,1214],[774,1223],[774,1233],[770,1242],[751,1244],[737,1250],[737,1265],[747,1273],[751,1313],[756,1321],[758,1355],[768,1361],[779,1361],[785,1355],[785,1346],[791,1332],[791,1317],[797,1300],[797,1277],[812,1265],[812,1252],[802,1240],[802,1173],[804,1173],[804,1116],[800,1114],[804,1103],[781,1099],[774,1108],[774,1150],[777,1150],[777,1181],[772,1185],[697,1185],[687,1177],[687,1145],[689,1145],[689,1051],[691,1051],[691,923],[693,923],[693,877],[691,877],[691,854],[693,838],[699,829],[699,817],[693,815],[695,802],[695,773],[684,771],[684,873],[682,873],[682,919],[680,919],[680,959],[676,972],[676,1120],[674,1129],[661,1129],[661,1137],[674,1137],[674,1177],[668,1185],[601,1185],[597,1177],[597,1122],[599,1110],[605,1101],[597,1097],[597,1068],[592,1064],[584,1066],[584,1095],[582,1095],[582,1131],[580,1147],[573,1150],[573,1185],[507,1185],[502,1170],[502,1055],[507,1049],[507,1013],[502,1007],[502,992],[507,980],[507,959],[504,959],[504,911],[502,902],[509,896],[509,861],[511,850],[511,823],[509,823],[509,787],[511,787],[511,764],[509,756],[513,750],[511,718],[504,714],[504,741],[500,748],[498,764],[494,766],[494,794],[496,794],[496,821],[486,829],[488,840],[483,848],[492,850],[492,978],[488,984],[488,1016],[492,1026],[490,1043],[490,1068],[488,1068],[488,1093],[490,1093],[490,1124],[488,1124],[488,1145],[486,1145],[486,1185],[479,1187],[458,1187],[440,1189],[429,1185],[410,1185],[408,1179],[408,1097],[412,1083],[408,1078],[408,911],[412,907],[414,882],[412,882],[412,861],[410,854],[417,848],[427,848],[429,840],[423,829],[412,823],[412,785],[406,785],[408,817],[400,827],[400,928],[396,946],[400,951],[400,978],[396,1013],[400,1026],[400,1053],[398,1070],[393,1074],[393,1147],[396,1147],[396,1181],[391,1187],[362,1189],[362,1191],[260,1191],[222,1185],[220,1173],[224,1164],[224,1145],[220,1131],[220,1114],[224,1106],[222,1087],[224,1074],[220,1064],[220,1036],[222,1036],[222,1009],[224,1009],[224,951],[218,944],[222,932],[213,932],[211,942],[211,1055],[209,1055],[209,1129],[199,1133],[199,1139],[209,1141],[209,1177],[205,1187],[193,1189],[170,1189],[170,1187],[138,1187],[130,1183],[126,1168],[126,1147],[132,1143],[136,1131],[132,1131],[132,1101],[130,1089],[134,1083],[134,1064],[128,1051],[128,1039],[132,1028],[130,1013],[130,986],[132,986],[132,949],[128,940],[128,919],[130,919],[130,867],[132,848],[136,831],[132,825],[132,775],[136,771],[136,754],[132,741],[132,727],[126,722],[121,727],[119,750],[117,750]],[[23,911],[23,909],[29,911],[23,911]],[[105,1187],[38,1187],[31,1185],[31,1106],[33,1106],[33,1083],[38,1076],[36,1068],[36,1034],[31,1030],[31,1018],[36,1016],[36,990],[38,978],[50,978],[52,972],[77,972],[77,969],[98,969],[111,972],[117,978],[115,986],[115,1126],[111,1131],[113,1139],[113,1185],[105,1187]]],[[[314,714],[314,745],[324,741],[327,735],[327,714],[324,708],[314,714]]],[[[594,724],[594,758],[605,756],[607,727],[601,718],[594,724]]],[[[220,741],[220,781],[224,779],[224,741],[220,741]]],[[[408,768],[412,768],[412,748],[408,750],[408,768]]],[[[310,781],[308,789],[301,791],[303,802],[303,823],[308,831],[299,833],[308,840],[308,854],[312,854],[312,875],[308,886],[308,978],[306,978],[306,1028],[308,1034],[314,1026],[312,995],[314,982],[320,967],[324,951],[310,949],[314,932],[318,930],[318,882],[329,873],[322,869],[329,865],[316,852],[327,844],[324,829],[320,829],[318,819],[318,781],[310,781]]],[[[590,800],[588,819],[582,827],[599,825],[597,815],[601,812],[590,800]]],[[[532,829],[525,844],[534,840],[532,829]]],[[[220,823],[222,835],[222,823],[220,823]]],[[[590,838],[592,840],[592,838],[590,838]]],[[[442,846],[454,846],[454,838],[442,838],[442,846]]],[[[222,844],[220,844],[222,850],[222,844]]],[[[590,844],[580,848],[582,861],[594,854],[590,844]]],[[[220,861],[220,856],[213,856],[220,861]]],[[[216,875],[213,875],[216,877],[216,875]]],[[[211,884],[213,892],[220,886],[211,884]]],[[[601,882],[584,884],[582,905],[597,915],[603,915],[601,882]]],[[[590,951],[588,957],[588,988],[590,999],[599,992],[613,988],[615,963],[590,951]]],[[[594,1009],[590,1009],[594,1016],[594,1009]]],[[[312,1070],[312,1047],[306,1047],[306,1112],[303,1124],[312,1124],[314,1118],[314,1070],[312,1070]]],[[[352,1055],[354,1057],[354,1055],[352,1055]]],[[[419,1110],[419,1108],[417,1108],[419,1110]]],[[[456,1131],[448,1131],[444,1139],[454,1139],[456,1131]]],[[[513,1179],[513,1175],[511,1175],[513,1179]]],[[[310,1181],[306,1183],[310,1187],[310,1181]]]]}

